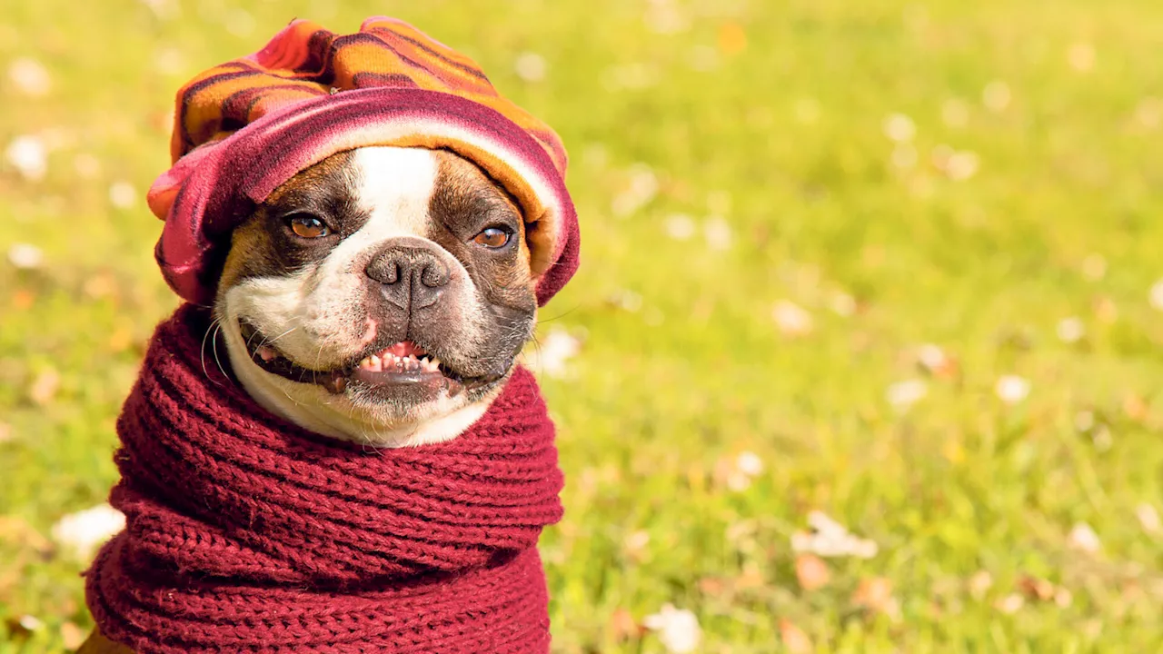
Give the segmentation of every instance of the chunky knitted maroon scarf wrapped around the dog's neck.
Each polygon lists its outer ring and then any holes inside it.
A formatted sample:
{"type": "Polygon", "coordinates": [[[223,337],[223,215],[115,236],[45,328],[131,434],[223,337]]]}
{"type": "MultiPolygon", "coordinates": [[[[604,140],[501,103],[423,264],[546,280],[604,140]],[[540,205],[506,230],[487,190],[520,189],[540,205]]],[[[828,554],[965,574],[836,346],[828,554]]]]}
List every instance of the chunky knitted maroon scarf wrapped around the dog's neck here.
{"type": "Polygon", "coordinates": [[[371,450],[258,407],[205,353],[205,310],[154,335],[117,433],[124,532],[87,573],[141,654],[547,653],[554,426],[518,369],[466,433],[371,450]]]}

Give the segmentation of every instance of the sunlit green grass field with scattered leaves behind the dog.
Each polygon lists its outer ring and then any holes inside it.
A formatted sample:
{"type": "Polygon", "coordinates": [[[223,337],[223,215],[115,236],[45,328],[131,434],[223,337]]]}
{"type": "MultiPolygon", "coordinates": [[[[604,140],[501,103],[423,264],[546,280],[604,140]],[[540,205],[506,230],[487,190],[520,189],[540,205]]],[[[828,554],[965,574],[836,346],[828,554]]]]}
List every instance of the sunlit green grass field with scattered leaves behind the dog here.
{"type": "Polygon", "coordinates": [[[716,654],[1163,651],[1163,3],[49,0],[0,12],[0,653],[92,624],[50,529],[176,306],[174,91],[371,14],[571,152],[556,652],[666,652],[668,603],[716,654]],[[813,510],[876,555],[800,556],[813,510]]]}

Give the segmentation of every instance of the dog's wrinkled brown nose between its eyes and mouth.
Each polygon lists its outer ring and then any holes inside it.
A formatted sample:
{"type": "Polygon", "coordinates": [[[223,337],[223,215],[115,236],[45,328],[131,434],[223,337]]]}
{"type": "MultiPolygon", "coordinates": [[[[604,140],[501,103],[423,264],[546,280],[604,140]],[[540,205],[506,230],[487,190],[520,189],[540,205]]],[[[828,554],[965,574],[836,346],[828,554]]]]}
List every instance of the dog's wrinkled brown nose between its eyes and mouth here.
{"type": "Polygon", "coordinates": [[[436,253],[424,247],[391,244],[371,257],[364,270],[383,285],[384,298],[408,311],[436,304],[451,275],[436,253]]]}

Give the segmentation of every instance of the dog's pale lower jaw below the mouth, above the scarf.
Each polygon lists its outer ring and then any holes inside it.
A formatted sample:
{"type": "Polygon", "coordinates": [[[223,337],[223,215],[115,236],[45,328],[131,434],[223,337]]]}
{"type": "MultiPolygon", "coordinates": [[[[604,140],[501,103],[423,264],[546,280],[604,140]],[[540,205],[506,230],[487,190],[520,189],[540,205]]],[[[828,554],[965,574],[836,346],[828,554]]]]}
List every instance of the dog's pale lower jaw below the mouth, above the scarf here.
{"type": "Polygon", "coordinates": [[[266,372],[251,360],[237,318],[221,315],[220,322],[230,367],[247,393],[274,415],[308,432],[334,439],[371,447],[413,447],[449,441],[479,420],[505,385],[502,381],[485,397],[463,406],[457,406],[451,399],[441,400],[428,418],[387,422],[357,408],[336,411],[327,405],[329,398],[322,386],[295,384],[266,372]],[[288,385],[295,386],[304,397],[294,397],[293,391],[287,390],[288,385]]]}

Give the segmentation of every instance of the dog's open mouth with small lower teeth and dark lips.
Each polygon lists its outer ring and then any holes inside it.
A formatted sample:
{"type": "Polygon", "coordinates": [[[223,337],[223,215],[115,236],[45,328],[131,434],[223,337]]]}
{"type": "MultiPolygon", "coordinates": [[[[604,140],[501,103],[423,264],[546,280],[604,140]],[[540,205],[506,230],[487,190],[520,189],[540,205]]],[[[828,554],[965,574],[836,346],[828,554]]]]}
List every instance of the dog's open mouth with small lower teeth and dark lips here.
{"type": "Polygon", "coordinates": [[[412,341],[387,347],[371,346],[348,364],[330,370],[314,370],[291,361],[254,325],[238,321],[242,339],[251,361],[272,375],[305,384],[319,384],[340,394],[349,386],[390,389],[391,386],[429,386],[456,396],[466,389],[484,386],[499,377],[465,377],[412,341]]]}

